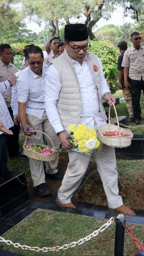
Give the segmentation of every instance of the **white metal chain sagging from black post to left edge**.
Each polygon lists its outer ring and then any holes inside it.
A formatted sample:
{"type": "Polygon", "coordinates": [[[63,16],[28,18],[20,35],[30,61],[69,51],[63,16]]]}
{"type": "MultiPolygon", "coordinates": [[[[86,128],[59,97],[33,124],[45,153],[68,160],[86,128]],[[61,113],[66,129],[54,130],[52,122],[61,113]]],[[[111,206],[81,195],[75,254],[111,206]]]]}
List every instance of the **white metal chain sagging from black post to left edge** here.
{"type": "Polygon", "coordinates": [[[43,248],[39,248],[37,246],[32,247],[32,246],[28,246],[28,245],[20,245],[19,243],[13,243],[10,240],[5,240],[1,236],[0,236],[0,242],[5,242],[7,245],[13,245],[15,248],[21,248],[23,250],[31,250],[31,251],[38,251],[38,252],[39,251],[43,251],[43,252],[59,251],[61,249],[66,250],[68,248],[75,247],[76,245],[82,245],[84,242],[87,242],[87,241],[91,240],[93,237],[97,236],[100,232],[103,232],[107,227],[109,227],[114,222],[115,222],[115,218],[111,217],[107,223],[102,225],[98,230],[95,230],[93,233],[86,236],[85,238],[81,238],[77,242],[71,242],[70,244],[65,244],[65,245],[62,245],[62,246],[57,245],[55,247],[43,247],[43,248]]]}

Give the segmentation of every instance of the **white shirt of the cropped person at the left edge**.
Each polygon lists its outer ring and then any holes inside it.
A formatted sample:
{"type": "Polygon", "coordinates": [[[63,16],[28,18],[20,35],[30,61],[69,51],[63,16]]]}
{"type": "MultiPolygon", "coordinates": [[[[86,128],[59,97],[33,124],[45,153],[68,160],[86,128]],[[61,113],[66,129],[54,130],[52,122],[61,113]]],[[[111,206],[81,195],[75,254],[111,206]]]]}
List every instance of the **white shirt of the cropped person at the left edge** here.
{"type": "MultiPolygon", "coordinates": [[[[11,119],[10,113],[8,111],[7,105],[5,103],[4,98],[2,97],[1,93],[4,93],[7,89],[9,89],[10,84],[8,81],[4,81],[0,83],[0,121],[3,123],[3,125],[9,129],[12,127],[13,121],[11,119]]],[[[0,134],[3,132],[0,131],[0,134]]]]}

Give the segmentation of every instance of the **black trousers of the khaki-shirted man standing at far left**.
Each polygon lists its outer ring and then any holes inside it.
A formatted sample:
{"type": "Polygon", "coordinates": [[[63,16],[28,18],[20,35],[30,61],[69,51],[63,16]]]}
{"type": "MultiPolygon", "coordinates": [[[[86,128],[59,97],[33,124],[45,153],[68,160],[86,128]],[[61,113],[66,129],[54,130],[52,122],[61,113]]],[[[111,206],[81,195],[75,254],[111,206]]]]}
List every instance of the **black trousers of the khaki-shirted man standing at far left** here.
{"type": "MultiPolygon", "coordinates": [[[[13,120],[13,111],[12,111],[11,107],[8,107],[8,110],[9,110],[10,116],[13,120]]],[[[11,130],[13,132],[13,135],[7,134],[7,152],[10,157],[13,157],[19,151],[20,124],[18,126],[14,125],[9,130],[11,130]]]]}

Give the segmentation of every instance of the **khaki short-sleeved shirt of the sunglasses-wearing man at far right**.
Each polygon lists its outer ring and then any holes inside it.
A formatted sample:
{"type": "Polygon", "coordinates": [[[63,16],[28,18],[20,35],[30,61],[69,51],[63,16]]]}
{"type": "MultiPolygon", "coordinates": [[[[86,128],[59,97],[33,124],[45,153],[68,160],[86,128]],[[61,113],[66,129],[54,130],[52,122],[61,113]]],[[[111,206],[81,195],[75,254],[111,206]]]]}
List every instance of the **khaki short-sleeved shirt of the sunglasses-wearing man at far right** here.
{"type": "Polygon", "coordinates": [[[129,68],[128,76],[133,80],[144,80],[144,47],[137,50],[132,46],[125,51],[122,67],[129,68]]]}

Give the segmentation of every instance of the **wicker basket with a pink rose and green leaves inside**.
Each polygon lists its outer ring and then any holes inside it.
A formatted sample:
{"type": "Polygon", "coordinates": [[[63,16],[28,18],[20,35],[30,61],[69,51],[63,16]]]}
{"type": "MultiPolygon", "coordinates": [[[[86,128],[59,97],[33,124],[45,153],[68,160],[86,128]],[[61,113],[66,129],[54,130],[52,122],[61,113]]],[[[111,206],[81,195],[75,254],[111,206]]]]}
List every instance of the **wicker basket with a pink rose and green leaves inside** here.
{"type": "MultiPolygon", "coordinates": [[[[35,131],[33,131],[33,132],[35,132],[35,131]]],[[[44,133],[43,131],[36,131],[36,132],[40,132],[40,133],[44,134],[45,136],[47,136],[49,138],[49,140],[52,143],[52,147],[53,147],[53,148],[49,147],[49,149],[51,149],[53,152],[49,155],[41,155],[40,153],[38,153],[36,151],[26,149],[26,146],[29,146],[29,144],[26,143],[26,141],[27,141],[27,135],[26,135],[25,142],[24,142],[24,145],[23,145],[24,154],[29,156],[30,158],[33,158],[33,159],[36,159],[36,160],[41,160],[41,161],[55,160],[57,152],[55,151],[55,147],[54,147],[54,144],[53,144],[51,138],[46,133],[44,133]]],[[[31,144],[31,145],[33,146],[34,144],[31,144]]],[[[46,145],[40,145],[40,146],[46,146],[46,145]]]]}

